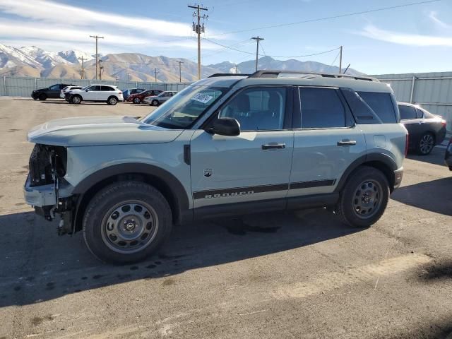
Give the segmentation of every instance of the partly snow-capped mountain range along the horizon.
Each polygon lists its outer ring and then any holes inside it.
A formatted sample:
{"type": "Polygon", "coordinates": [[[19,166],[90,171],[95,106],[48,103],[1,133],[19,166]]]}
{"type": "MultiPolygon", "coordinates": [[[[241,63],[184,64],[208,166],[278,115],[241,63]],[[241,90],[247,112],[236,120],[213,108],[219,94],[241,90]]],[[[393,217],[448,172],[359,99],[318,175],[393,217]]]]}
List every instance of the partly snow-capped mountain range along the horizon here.
{"type": "MultiPolygon", "coordinates": [[[[0,76],[31,76],[35,78],[81,78],[81,59],[83,57],[84,78],[95,78],[95,57],[77,50],[47,52],[40,47],[11,47],[0,44],[0,76]]],[[[197,64],[189,59],[150,57],[140,53],[107,54],[100,58],[102,79],[121,79],[129,81],[178,82],[179,61],[182,61],[182,81],[197,79],[197,64]],[[155,74],[157,69],[157,74],[155,74]]],[[[253,73],[255,60],[233,64],[223,61],[219,64],[202,66],[202,76],[213,73],[253,73]]],[[[278,69],[291,71],[311,71],[338,73],[336,66],[328,66],[316,61],[295,59],[276,60],[272,57],[258,59],[258,69],[278,69]]],[[[348,69],[347,74],[362,74],[348,69]]]]}

